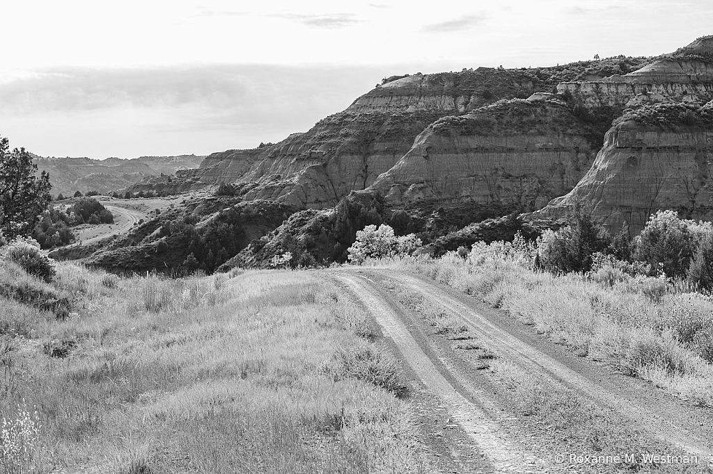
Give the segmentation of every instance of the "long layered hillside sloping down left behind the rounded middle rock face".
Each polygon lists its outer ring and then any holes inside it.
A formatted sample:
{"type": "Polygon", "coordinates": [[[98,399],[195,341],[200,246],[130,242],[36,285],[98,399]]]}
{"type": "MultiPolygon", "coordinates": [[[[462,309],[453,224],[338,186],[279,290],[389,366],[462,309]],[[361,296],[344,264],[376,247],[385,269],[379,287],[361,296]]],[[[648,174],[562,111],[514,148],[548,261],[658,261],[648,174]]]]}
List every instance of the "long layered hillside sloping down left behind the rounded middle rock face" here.
{"type": "Polygon", "coordinates": [[[200,169],[145,179],[128,190],[173,193],[226,182],[235,184],[245,199],[327,209],[350,191],[374,184],[409,152],[416,136],[441,117],[502,99],[550,93],[561,80],[601,78],[642,63],[643,58],[609,58],[553,68],[393,76],[307,132],[271,147],[211,154],[200,169]]]}

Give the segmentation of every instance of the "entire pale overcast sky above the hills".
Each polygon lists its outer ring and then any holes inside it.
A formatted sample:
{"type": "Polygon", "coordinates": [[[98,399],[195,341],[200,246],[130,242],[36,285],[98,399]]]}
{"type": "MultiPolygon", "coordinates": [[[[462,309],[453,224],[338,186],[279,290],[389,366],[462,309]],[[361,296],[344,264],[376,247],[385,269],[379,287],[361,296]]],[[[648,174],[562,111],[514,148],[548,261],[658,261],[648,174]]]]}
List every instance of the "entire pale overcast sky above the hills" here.
{"type": "Polygon", "coordinates": [[[3,2],[0,136],[43,156],[277,142],[381,78],[674,51],[709,0],[3,2]]]}

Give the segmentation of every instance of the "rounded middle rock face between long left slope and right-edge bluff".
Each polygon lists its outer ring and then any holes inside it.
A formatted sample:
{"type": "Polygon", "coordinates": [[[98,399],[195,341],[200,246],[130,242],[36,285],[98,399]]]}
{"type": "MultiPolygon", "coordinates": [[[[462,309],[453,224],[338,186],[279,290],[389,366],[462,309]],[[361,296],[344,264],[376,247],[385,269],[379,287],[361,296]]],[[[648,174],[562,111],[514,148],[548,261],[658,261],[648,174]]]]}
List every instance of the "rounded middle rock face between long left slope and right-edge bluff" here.
{"type": "Polygon", "coordinates": [[[438,120],[370,189],[392,205],[437,199],[542,208],[573,189],[597,150],[593,127],[549,96],[438,120]]]}

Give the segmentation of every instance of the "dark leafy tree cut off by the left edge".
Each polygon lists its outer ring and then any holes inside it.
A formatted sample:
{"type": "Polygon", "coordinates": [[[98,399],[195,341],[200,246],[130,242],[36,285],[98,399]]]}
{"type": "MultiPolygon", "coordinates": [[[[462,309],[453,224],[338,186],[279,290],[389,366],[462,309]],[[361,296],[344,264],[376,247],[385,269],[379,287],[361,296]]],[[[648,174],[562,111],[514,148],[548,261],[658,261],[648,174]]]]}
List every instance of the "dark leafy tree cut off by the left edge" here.
{"type": "Polygon", "coordinates": [[[52,200],[49,174],[36,176],[37,165],[24,148],[10,151],[0,138],[0,214],[6,238],[29,236],[39,216],[52,200]]]}

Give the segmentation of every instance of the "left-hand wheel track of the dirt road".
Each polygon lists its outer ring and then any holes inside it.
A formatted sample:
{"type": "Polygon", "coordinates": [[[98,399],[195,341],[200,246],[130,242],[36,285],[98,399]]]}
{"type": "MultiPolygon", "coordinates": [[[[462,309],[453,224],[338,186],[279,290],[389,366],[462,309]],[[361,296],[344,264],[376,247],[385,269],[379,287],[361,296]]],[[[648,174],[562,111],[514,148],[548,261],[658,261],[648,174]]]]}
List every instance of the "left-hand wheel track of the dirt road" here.
{"type": "Polygon", "coordinates": [[[401,318],[391,309],[389,302],[371,288],[374,283],[357,275],[339,274],[337,279],[351,289],[369,309],[384,335],[391,338],[399,348],[404,361],[428,389],[446,403],[448,412],[488,456],[496,472],[532,473],[535,470],[551,469],[550,466],[545,468],[547,461],[533,459],[516,441],[508,439],[496,421],[469,400],[462,389],[459,390],[458,386],[448,381],[447,375],[441,372],[445,369],[438,368],[442,364],[434,363],[431,359],[433,354],[426,354],[401,318]]]}

